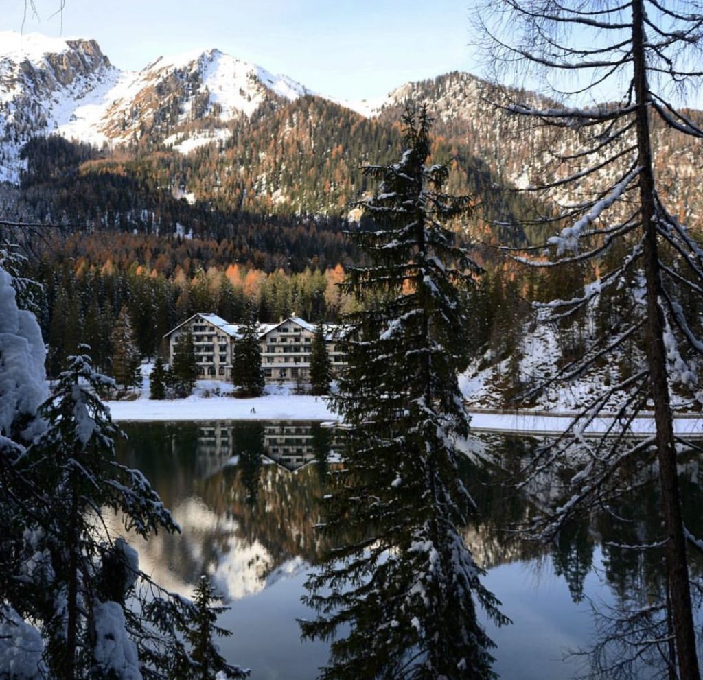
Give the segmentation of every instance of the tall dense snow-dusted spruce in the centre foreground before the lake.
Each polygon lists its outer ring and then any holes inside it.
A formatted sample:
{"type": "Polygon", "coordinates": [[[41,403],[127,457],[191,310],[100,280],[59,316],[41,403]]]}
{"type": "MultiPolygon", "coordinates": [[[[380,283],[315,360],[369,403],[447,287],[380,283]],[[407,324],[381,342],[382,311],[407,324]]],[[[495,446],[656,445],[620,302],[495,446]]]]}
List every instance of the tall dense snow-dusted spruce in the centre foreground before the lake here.
{"type": "Polygon", "coordinates": [[[427,166],[430,117],[403,117],[399,162],[364,169],[380,180],[359,206],[375,230],[352,234],[369,265],[342,285],[363,310],[345,319],[347,370],[335,410],[349,426],[344,470],[330,479],[323,531],[358,535],[312,575],[318,612],[304,636],[333,639],[332,679],[484,680],[491,640],[478,601],[506,622],[460,532],[474,504],[457,472],[456,438],[469,419],[456,367],[465,289],[479,268],[443,222],[471,199],[442,192],[448,170],[427,166]]]}

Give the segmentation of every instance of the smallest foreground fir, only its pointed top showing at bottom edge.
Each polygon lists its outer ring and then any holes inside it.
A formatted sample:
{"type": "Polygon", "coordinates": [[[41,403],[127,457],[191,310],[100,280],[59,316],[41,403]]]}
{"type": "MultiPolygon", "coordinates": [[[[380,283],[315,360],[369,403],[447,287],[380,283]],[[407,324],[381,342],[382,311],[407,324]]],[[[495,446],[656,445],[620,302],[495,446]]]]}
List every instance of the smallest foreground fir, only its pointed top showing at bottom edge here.
{"type": "Polygon", "coordinates": [[[216,625],[217,617],[228,609],[218,606],[219,601],[221,598],[214,593],[207,576],[201,576],[193,599],[193,617],[181,626],[181,633],[191,646],[192,662],[185,667],[177,665],[172,680],[236,680],[250,674],[248,669],[228,664],[214,643],[214,636],[231,635],[216,625]]]}

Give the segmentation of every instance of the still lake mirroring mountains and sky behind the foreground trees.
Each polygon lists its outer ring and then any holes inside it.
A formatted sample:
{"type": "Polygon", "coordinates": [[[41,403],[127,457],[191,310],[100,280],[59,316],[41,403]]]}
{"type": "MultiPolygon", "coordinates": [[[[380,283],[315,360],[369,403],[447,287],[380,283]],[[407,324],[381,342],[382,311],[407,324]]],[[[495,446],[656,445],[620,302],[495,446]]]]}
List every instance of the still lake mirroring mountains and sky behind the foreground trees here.
{"type": "MultiPolygon", "coordinates": [[[[141,568],[162,585],[190,595],[211,577],[229,610],[220,625],[233,635],[219,646],[253,680],[313,680],[327,645],[299,639],[297,618],[314,617],[300,601],[306,575],[325,545],[313,525],[325,471],[338,463],[333,435],[318,423],[218,421],[122,424],[129,441],[120,462],[141,469],[182,528],[181,535],[134,540],[141,568]]],[[[503,603],[512,625],[486,628],[496,642],[494,670],[505,679],[564,680],[592,655],[569,656],[602,640],[610,608],[652,601],[662,587],[662,556],[614,543],[640,544],[657,535],[657,488],[624,501],[612,515],[569,528],[545,549],[506,531],[538,510],[541,499],[498,483],[501,469],[522,459],[537,440],[483,433],[470,450],[489,452],[501,468],[468,456],[460,470],[479,506],[465,540],[487,571],[484,584],[503,603]],[[614,520],[637,505],[637,523],[614,520]],[[651,511],[647,506],[651,505],[651,511]],[[649,519],[647,519],[649,518],[649,519]]],[[[463,462],[464,463],[464,462],[463,462]]],[[[640,471],[647,476],[648,471],[640,471]]],[[[703,534],[702,472],[697,457],[680,468],[688,527],[703,534]]],[[[695,563],[693,573],[702,571],[695,563]]],[[[639,677],[654,677],[646,665],[639,677]]]]}

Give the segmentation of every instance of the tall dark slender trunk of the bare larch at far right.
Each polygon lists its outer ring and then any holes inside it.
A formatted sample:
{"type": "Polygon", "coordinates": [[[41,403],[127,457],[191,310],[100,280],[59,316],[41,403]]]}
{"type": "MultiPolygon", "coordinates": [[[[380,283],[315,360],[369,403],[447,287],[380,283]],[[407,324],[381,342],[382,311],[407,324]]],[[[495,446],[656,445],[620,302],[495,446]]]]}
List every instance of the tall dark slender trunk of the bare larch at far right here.
{"type": "Polygon", "coordinates": [[[681,680],[700,680],[696,655],[695,629],[691,610],[686,544],[681,515],[681,497],[676,472],[676,447],[666,377],[664,317],[659,306],[662,281],[657,252],[657,221],[654,214],[654,172],[650,144],[650,102],[645,59],[645,12],[643,0],[632,3],[633,78],[637,110],[638,164],[640,165],[640,211],[647,282],[647,362],[650,371],[654,421],[657,433],[659,482],[662,486],[662,511],[666,532],[666,570],[671,597],[671,614],[676,631],[676,652],[681,680]]]}

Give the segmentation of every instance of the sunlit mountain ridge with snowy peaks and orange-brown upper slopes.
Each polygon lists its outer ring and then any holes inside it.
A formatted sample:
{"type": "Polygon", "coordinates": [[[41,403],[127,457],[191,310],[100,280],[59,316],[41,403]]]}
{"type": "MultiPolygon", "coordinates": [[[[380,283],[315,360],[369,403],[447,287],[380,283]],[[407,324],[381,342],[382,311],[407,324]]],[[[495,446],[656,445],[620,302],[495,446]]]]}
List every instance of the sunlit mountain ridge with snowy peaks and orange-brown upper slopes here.
{"type": "MultiPolygon", "coordinates": [[[[92,39],[32,34],[24,52],[10,47],[0,53],[0,182],[19,183],[27,169],[20,158],[25,143],[58,133],[105,147],[104,171],[134,171],[110,157],[120,147],[150,157],[152,187],[203,207],[356,220],[349,201],[368,190],[359,166],[391,159],[408,101],[430,107],[437,157],[451,159],[448,187],[482,199],[499,186],[525,188],[543,176],[563,176],[559,156],[581,145],[578,129],[554,135],[501,115],[490,103],[501,90],[465,72],[411,81],[380,100],[353,103],[216,48],[162,56],[134,72],[113,66],[92,39]]],[[[530,105],[553,105],[529,91],[511,93],[530,105]]],[[[703,113],[694,114],[703,120],[703,113]]],[[[702,150],[666,128],[654,137],[666,199],[683,221],[699,221],[703,202],[686,180],[703,166],[702,150]]],[[[576,195],[565,191],[557,199],[572,202],[576,195]]],[[[494,211],[489,220],[510,212],[494,211]]]]}

